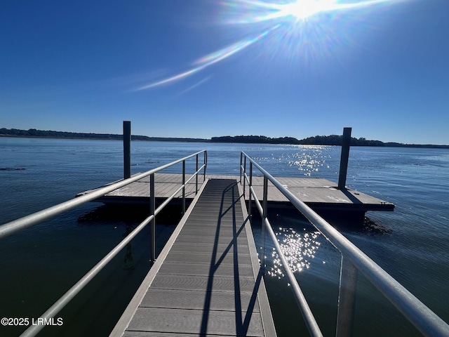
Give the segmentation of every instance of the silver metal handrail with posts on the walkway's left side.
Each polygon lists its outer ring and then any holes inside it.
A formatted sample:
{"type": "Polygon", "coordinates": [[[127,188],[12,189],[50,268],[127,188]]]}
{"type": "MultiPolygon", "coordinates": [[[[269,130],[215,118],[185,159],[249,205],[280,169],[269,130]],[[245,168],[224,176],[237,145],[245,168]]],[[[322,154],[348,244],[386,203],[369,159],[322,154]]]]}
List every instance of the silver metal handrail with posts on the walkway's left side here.
{"type": "MultiPolygon", "coordinates": [[[[206,150],[202,150],[199,152],[196,152],[194,154],[191,154],[187,157],[178,159],[176,161],[172,161],[171,163],[168,163],[163,166],[156,167],[156,169],[152,169],[150,171],[139,173],[135,176],[132,176],[131,178],[121,180],[118,183],[114,183],[112,185],[102,187],[98,190],[95,190],[93,192],[90,192],[89,194],[81,195],[80,197],[76,197],[74,199],[70,199],[69,201],[65,201],[61,204],[55,205],[53,207],[50,207],[48,209],[44,209],[43,211],[39,211],[36,213],[33,213],[29,216],[25,216],[23,218],[20,218],[18,220],[11,221],[10,223],[6,223],[4,225],[0,226],[0,238],[6,237],[8,235],[13,234],[14,232],[18,232],[19,230],[25,229],[27,227],[30,227],[32,225],[35,225],[36,223],[40,223],[43,220],[48,220],[49,218],[53,218],[54,216],[57,216],[60,213],[63,213],[65,211],[69,211],[70,209],[74,209],[76,206],[80,206],[81,204],[85,204],[88,201],[92,201],[94,199],[97,199],[98,197],[102,197],[105,194],[112,192],[113,190],[116,190],[120,187],[126,186],[130,183],[133,183],[137,180],[140,180],[142,178],[145,178],[147,176],[150,176],[150,215],[145,220],[142,221],[136,227],[130,234],[128,234],[117,246],[112,249],[112,251],[109,251],[109,253],[100,260],[99,263],[97,263],[91,270],[89,270],[86,275],[84,275],[72,288],[70,288],[59,300],[57,300],[51,308],[49,308],[46,312],[41,315],[40,318],[44,319],[43,322],[45,322],[48,319],[51,319],[52,317],[55,317],[55,315],[62,310],[62,308],[69,303],[74,296],[76,296],[79,291],[81,291],[84,286],[88,284],[88,282],[91,282],[93,277],[100,272],[100,270],[109,263],[114,256],[123,249],[126,244],[128,244],[146,225],[149,223],[151,224],[151,233],[152,233],[152,261],[156,258],[155,253],[155,246],[156,246],[156,234],[155,234],[155,218],[156,215],[165,207],[181,190],[182,190],[182,199],[183,199],[183,205],[185,206],[185,185],[189,183],[190,180],[192,180],[194,177],[198,177],[199,172],[203,170],[203,180],[206,180],[206,166],[207,166],[207,152],[206,150]],[[199,154],[203,153],[204,155],[204,164],[199,168],[198,167],[198,157],[199,154]],[[185,180],[185,161],[189,158],[196,157],[196,172],[192,174],[192,176],[185,180]],[[163,169],[167,169],[170,166],[173,166],[175,164],[179,164],[182,162],[182,185],[180,188],[178,188],[168,199],[163,201],[163,203],[157,208],[154,209],[154,173],[157,173],[159,171],[162,171],[163,169]]],[[[198,192],[198,179],[196,179],[196,192],[198,192]]],[[[183,210],[185,212],[185,209],[183,210]]],[[[25,330],[21,336],[36,336],[41,329],[43,329],[43,324],[36,324],[29,326],[27,330],[25,330]]]]}

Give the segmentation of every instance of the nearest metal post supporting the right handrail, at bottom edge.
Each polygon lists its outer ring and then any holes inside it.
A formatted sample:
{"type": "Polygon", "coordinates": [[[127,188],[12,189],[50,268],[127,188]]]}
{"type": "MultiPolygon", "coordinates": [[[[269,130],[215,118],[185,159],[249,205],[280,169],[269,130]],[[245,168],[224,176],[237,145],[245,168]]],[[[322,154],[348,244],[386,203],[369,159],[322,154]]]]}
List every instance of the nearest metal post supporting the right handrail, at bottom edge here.
{"type": "Polygon", "coordinates": [[[357,269],[342,255],[338,295],[337,337],[352,336],[356,308],[357,269]]]}

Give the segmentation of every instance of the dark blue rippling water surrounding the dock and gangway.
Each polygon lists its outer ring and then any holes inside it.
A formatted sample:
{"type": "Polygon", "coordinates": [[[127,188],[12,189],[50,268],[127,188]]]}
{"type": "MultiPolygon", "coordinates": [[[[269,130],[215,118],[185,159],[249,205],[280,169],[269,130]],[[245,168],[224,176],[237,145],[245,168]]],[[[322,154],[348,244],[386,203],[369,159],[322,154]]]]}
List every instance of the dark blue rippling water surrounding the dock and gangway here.
{"type": "MultiPolygon", "coordinates": [[[[203,149],[211,174],[238,175],[241,150],[273,176],[336,182],[340,162],[340,147],[137,141],[131,146],[132,173],[203,149]]],[[[118,180],[123,172],[122,144],[113,140],[0,138],[0,153],[0,223],[118,180]]],[[[187,170],[193,166],[194,160],[187,170]]],[[[170,171],[180,173],[181,166],[170,171]]],[[[352,147],[347,185],[390,201],[396,209],[368,212],[376,226],[343,228],[343,234],[449,322],[449,150],[352,147]]],[[[39,317],[147,211],[119,210],[80,220],[98,206],[83,205],[1,239],[0,317],[39,317]]],[[[178,213],[172,209],[158,220],[159,242],[170,236],[178,213]]],[[[271,220],[323,333],[334,336],[340,254],[295,212],[274,213],[271,220]]],[[[41,336],[107,336],[150,267],[148,242],[146,229],[57,315],[63,325],[49,326],[41,336]]],[[[266,283],[276,329],[279,336],[301,333],[304,324],[282,266],[271,247],[268,252],[266,283]]],[[[354,336],[420,336],[362,276],[357,291],[354,336]]],[[[17,336],[23,330],[0,326],[0,335],[17,336]]]]}

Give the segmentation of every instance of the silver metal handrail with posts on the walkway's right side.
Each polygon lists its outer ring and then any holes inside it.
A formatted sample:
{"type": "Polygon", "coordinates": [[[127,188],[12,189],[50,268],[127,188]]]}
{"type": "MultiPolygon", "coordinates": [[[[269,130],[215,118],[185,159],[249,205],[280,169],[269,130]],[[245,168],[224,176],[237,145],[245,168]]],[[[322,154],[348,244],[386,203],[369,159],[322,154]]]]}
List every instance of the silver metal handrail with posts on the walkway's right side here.
{"type": "MultiPolygon", "coordinates": [[[[245,185],[248,183],[250,190],[249,203],[252,202],[252,196],[256,203],[257,209],[262,215],[262,231],[264,228],[269,232],[273,239],[276,250],[281,257],[281,262],[286,267],[286,275],[292,284],[293,293],[298,305],[302,309],[302,315],[309,328],[309,332],[312,336],[321,336],[319,328],[317,329],[316,320],[307,301],[304,303],[300,286],[297,284],[293,272],[287,263],[286,258],[283,256],[281,247],[279,246],[276,234],[274,234],[269,220],[267,219],[267,181],[271,181],[273,185],[300,211],[309,222],[316,227],[326,239],[335,246],[336,249],[342,254],[342,266],[340,270],[340,295],[338,300],[338,313],[337,313],[337,336],[350,336],[352,331],[352,320],[354,317],[354,305],[355,305],[355,284],[357,271],[360,271],[365,275],[368,281],[371,282],[377,289],[379,289],[384,296],[402,313],[424,336],[449,336],[449,325],[443,321],[438,315],[431,311],[424,303],[416,298],[410,291],[408,291],[402,284],[396,281],[391,275],[382,269],[377,263],[369,258],[363,251],[358,249],[352,242],[349,241],[343,234],[338,232],[332,225],[326,220],[321,218],[315,211],[304,202],[297,199],[293,193],[283,187],[273,176],[265,171],[262,166],[257,164],[254,159],[248,156],[245,152],[241,152],[240,155],[240,180],[243,170],[243,193],[245,193],[245,185]],[[246,174],[246,159],[250,161],[250,176],[246,174]],[[243,164],[243,165],[242,165],[243,164]],[[253,165],[264,176],[264,197],[263,206],[260,206],[260,202],[255,196],[255,192],[252,186],[253,179],[253,165]],[[299,289],[299,291],[298,291],[299,289]]],[[[248,206],[250,212],[251,206],[248,206]]],[[[263,232],[262,232],[263,235],[263,232]]],[[[264,254],[262,254],[264,255],[264,254]]],[[[263,256],[264,257],[264,256],[263,256]]],[[[263,265],[263,260],[262,260],[263,265]]]]}

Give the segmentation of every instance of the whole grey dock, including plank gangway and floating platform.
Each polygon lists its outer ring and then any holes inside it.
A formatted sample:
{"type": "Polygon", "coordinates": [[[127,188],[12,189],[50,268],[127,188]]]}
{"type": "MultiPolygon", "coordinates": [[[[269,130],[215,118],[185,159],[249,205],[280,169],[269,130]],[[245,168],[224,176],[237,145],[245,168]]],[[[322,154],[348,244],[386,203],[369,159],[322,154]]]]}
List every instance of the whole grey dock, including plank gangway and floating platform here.
{"type": "MultiPolygon", "coordinates": [[[[263,178],[252,180],[262,201],[263,178]]],[[[368,194],[339,190],[326,179],[276,180],[318,210],[394,209],[368,194]]],[[[161,203],[182,185],[182,174],[156,173],[154,182],[161,203]]],[[[149,190],[145,177],[95,201],[149,204],[149,190]]],[[[186,184],[185,198],[192,200],[189,208],[110,336],[276,336],[248,217],[248,186],[239,176],[199,176],[198,183],[186,184]]],[[[289,204],[270,182],[267,199],[271,207],[289,204]]]]}

